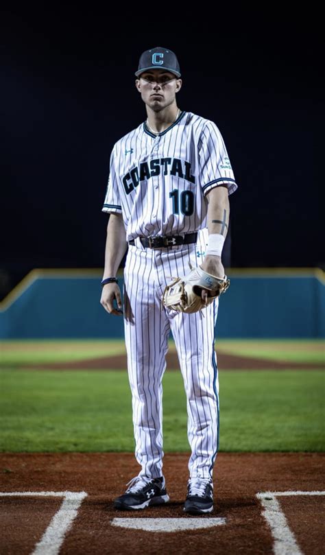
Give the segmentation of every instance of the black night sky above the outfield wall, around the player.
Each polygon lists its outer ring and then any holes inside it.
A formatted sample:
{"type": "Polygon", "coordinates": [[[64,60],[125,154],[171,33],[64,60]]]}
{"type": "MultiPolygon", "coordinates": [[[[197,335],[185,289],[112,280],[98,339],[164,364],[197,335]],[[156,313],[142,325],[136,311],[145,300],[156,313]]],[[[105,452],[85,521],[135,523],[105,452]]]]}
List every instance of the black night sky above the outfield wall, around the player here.
{"type": "Polygon", "coordinates": [[[0,298],[32,268],[104,265],[110,151],[146,118],[134,71],[156,46],[178,56],[178,106],[226,142],[231,265],[324,267],[321,16],[207,8],[2,12],[0,298]]]}

